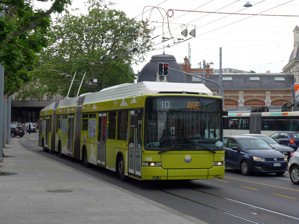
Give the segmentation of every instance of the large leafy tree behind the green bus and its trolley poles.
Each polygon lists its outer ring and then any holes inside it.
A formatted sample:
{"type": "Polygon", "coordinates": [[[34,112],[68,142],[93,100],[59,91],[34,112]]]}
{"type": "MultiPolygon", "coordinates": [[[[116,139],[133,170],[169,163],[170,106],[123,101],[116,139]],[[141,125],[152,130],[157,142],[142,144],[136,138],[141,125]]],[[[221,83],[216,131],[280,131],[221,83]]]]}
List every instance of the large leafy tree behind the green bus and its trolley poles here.
{"type": "Polygon", "coordinates": [[[69,97],[77,95],[85,72],[79,94],[132,83],[136,79],[132,63],[144,61],[144,54],[150,49],[149,38],[144,36],[149,36],[151,30],[143,29],[141,21],[113,9],[112,2],[89,0],[87,4],[87,15],[74,9],[56,19],[48,35],[50,45],[40,54],[44,64],[31,72],[46,94],[66,96],[76,71],[69,97]],[[133,47],[138,51],[129,52],[133,47]],[[101,56],[107,58],[100,60],[101,56]],[[118,59],[112,60],[112,56],[118,59]],[[97,83],[89,82],[90,79],[97,79],[97,83]]]}

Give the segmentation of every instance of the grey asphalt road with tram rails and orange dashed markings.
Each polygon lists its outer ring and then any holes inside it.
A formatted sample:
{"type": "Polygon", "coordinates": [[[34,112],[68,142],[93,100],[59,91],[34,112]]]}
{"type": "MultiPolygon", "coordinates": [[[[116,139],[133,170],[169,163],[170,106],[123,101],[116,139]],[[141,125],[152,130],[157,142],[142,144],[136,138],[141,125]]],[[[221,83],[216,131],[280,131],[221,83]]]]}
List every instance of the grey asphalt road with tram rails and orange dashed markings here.
{"type": "Polygon", "coordinates": [[[31,151],[207,223],[299,223],[299,185],[290,181],[289,173],[243,176],[226,168],[223,179],[122,182],[104,168],[86,168],[70,157],[44,152],[38,146],[38,133],[14,139],[31,151]]]}

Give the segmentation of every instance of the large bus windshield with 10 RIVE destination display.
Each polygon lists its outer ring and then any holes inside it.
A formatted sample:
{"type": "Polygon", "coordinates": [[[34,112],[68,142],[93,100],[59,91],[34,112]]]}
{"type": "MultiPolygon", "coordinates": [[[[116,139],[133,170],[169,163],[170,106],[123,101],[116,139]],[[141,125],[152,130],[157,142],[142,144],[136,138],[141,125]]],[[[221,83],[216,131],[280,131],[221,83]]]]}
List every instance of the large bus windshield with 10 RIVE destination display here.
{"type": "Polygon", "coordinates": [[[149,97],[145,106],[144,147],[173,150],[216,149],[222,142],[219,99],[173,96],[149,97]]]}

